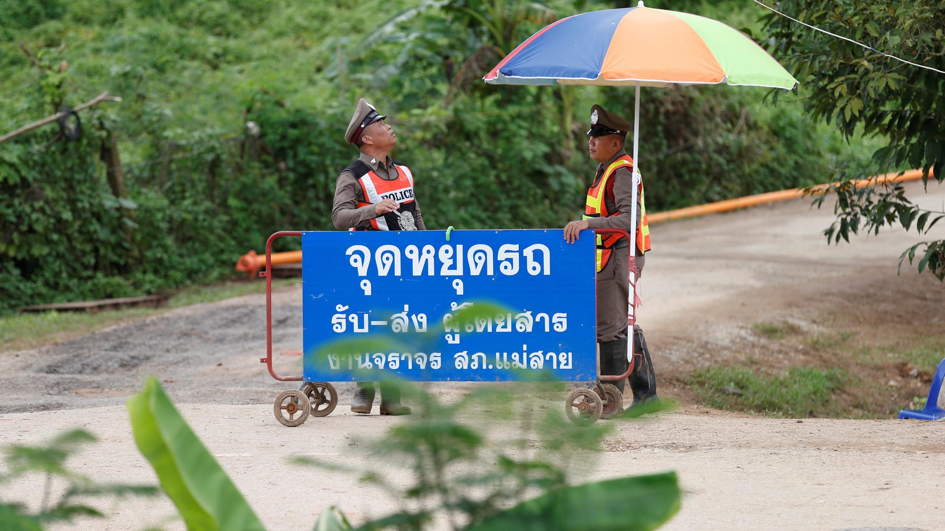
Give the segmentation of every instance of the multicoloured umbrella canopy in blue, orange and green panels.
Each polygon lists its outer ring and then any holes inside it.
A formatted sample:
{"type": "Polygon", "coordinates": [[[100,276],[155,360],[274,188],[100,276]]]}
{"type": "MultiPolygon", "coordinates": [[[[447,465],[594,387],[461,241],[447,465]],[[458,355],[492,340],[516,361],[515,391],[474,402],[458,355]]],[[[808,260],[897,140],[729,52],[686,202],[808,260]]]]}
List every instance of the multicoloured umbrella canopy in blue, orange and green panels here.
{"type": "Polygon", "coordinates": [[[561,19],[520,44],[484,79],[514,85],[798,84],[744,33],[706,17],[645,7],[561,19]]]}

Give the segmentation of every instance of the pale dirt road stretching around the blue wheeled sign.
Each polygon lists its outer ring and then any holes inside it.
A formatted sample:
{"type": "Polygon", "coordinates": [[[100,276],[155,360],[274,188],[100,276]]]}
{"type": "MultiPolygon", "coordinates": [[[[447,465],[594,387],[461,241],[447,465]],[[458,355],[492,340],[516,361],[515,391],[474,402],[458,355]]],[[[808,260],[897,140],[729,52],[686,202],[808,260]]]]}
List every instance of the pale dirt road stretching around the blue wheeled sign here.
{"type": "MultiPolygon", "coordinates": [[[[932,185],[925,196],[920,183],[905,187],[929,208],[945,204],[943,186],[932,185]]],[[[900,331],[921,327],[945,334],[942,284],[909,266],[896,275],[899,253],[914,236],[887,230],[828,247],[820,231],[831,212],[809,204],[792,200],[654,226],[639,322],[663,396],[685,399],[679,376],[691,368],[746,355],[773,366],[789,363],[789,352],[765,357],[765,345],[750,330],[761,320],[790,318],[818,327],[828,317],[852,316],[876,334],[888,333],[889,323],[900,331]]],[[[931,236],[943,234],[945,227],[936,226],[931,236]]],[[[275,301],[278,368],[298,373],[301,289],[284,289],[275,301]]],[[[295,429],[278,424],[271,403],[287,385],[258,363],[265,354],[264,312],[265,300],[249,296],[35,351],[0,353],[0,442],[40,441],[62,428],[85,426],[102,442],[76,459],[78,470],[103,481],[153,483],[153,472],[134,449],[124,408],[143,377],[153,374],[270,529],[310,528],[329,505],[358,520],[384,514],[396,501],[350,476],[300,471],[284,457],[318,455],[350,464],[358,459],[352,441],[377,437],[400,420],[350,413],[350,385],[339,385],[342,402],[331,416],[295,429]]],[[[446,398],[468,388],[435,387],[446,398]]],[[[945,529],[945,443],[938,423],[799,422],[687,406],[620,424],[605,450],[589,477],[679,472],[682,510],[667,530],[945,529]]],[[[0,498],[35,504],[41,492],[35,479],[15,491],[0,489],[0,498]]],[[[104,508],[110,520],[78,528],[182,528],[166,500],[104,508]]]]}

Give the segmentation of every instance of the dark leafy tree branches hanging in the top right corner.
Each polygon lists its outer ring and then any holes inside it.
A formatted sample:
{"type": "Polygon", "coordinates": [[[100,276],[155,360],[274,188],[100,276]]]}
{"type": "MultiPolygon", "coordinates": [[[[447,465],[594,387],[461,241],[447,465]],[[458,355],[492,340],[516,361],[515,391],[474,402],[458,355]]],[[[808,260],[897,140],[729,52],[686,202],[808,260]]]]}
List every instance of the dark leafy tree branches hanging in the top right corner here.
{"type": "MultiPolygon", "coordinates": [[[[945,178],[945,2],[919,0],[889,6],[834,0],[784,0],[784,14],[824,31],[865,43],[862,45],[800,26],[777,13],[765,15],[774,39],[772,52],[791,70],[811,95],[804,107],[812,117],[833,122],[850,140],[862,131],[887,139],[873,154],[873,168],[922,168],[923,183],[945,178]],[[908,60],[915,64],[906,64],[908,60]],[[916,66],[916,64],[921,66],[916,66]],[[927,67],[927,68],[926,68],[927,67]],[[933,70],[935,69],[935,70],[933,70]]],[[[857,188],[849,175],[833,186],[836,221],[824,231],[828,243],[859,231],[878,233],[899,224],[906,231],[930,234],[942,212],[919,208],[905,196],[901,184],[886,182],[857,188]]],[[[816,199],[818,207],[824,197],[816,199]]],[[[945,209],[943,209],[945,210],[945,209]]],[[[941,230],[942,225],[938,226],[941,230]]],[[[919,242],[902,252],[902,262],[919,257],[918,269],[928,269],[945,281],[945,240],[919,242]]]]}

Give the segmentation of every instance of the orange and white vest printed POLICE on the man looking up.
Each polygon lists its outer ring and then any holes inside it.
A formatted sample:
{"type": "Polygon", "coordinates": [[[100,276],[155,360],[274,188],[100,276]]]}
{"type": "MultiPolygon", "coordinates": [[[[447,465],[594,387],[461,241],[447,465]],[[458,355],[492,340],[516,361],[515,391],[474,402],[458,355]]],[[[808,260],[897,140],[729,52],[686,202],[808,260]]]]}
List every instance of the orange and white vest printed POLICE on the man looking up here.
{"type": "Polygon", "coordinates": [[[382,179],[370,166],[361,161],[354,161],[347,169],[351,170],[354,179],[361,185],[364,200],[358,201],[361,208],[381,202],[381,199],[391,198],[397,201],[400,209],[379,215],[370,220],[370,228],[354,227],[354,231],[416,231],[417,230],[417,202],[414,200],[413,173],[406,164],[390,160],[397,170],[397,179],[382,179]]]}

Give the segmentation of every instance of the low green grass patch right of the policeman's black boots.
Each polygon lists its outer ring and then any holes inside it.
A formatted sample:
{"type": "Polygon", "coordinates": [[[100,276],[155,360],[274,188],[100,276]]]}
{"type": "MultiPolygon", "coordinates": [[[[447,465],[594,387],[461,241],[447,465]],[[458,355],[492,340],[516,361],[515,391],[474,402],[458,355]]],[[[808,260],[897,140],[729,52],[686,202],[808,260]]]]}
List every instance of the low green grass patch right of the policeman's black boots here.
{"type": "Polygon", "coordinates": [[[716,409],[795,419],[846,416],[833,395],[851,378],[838,368],[792,367],[765,374],[748,367],[719,367],[696,369],[687,380],[699,401],[716,409]]]}

